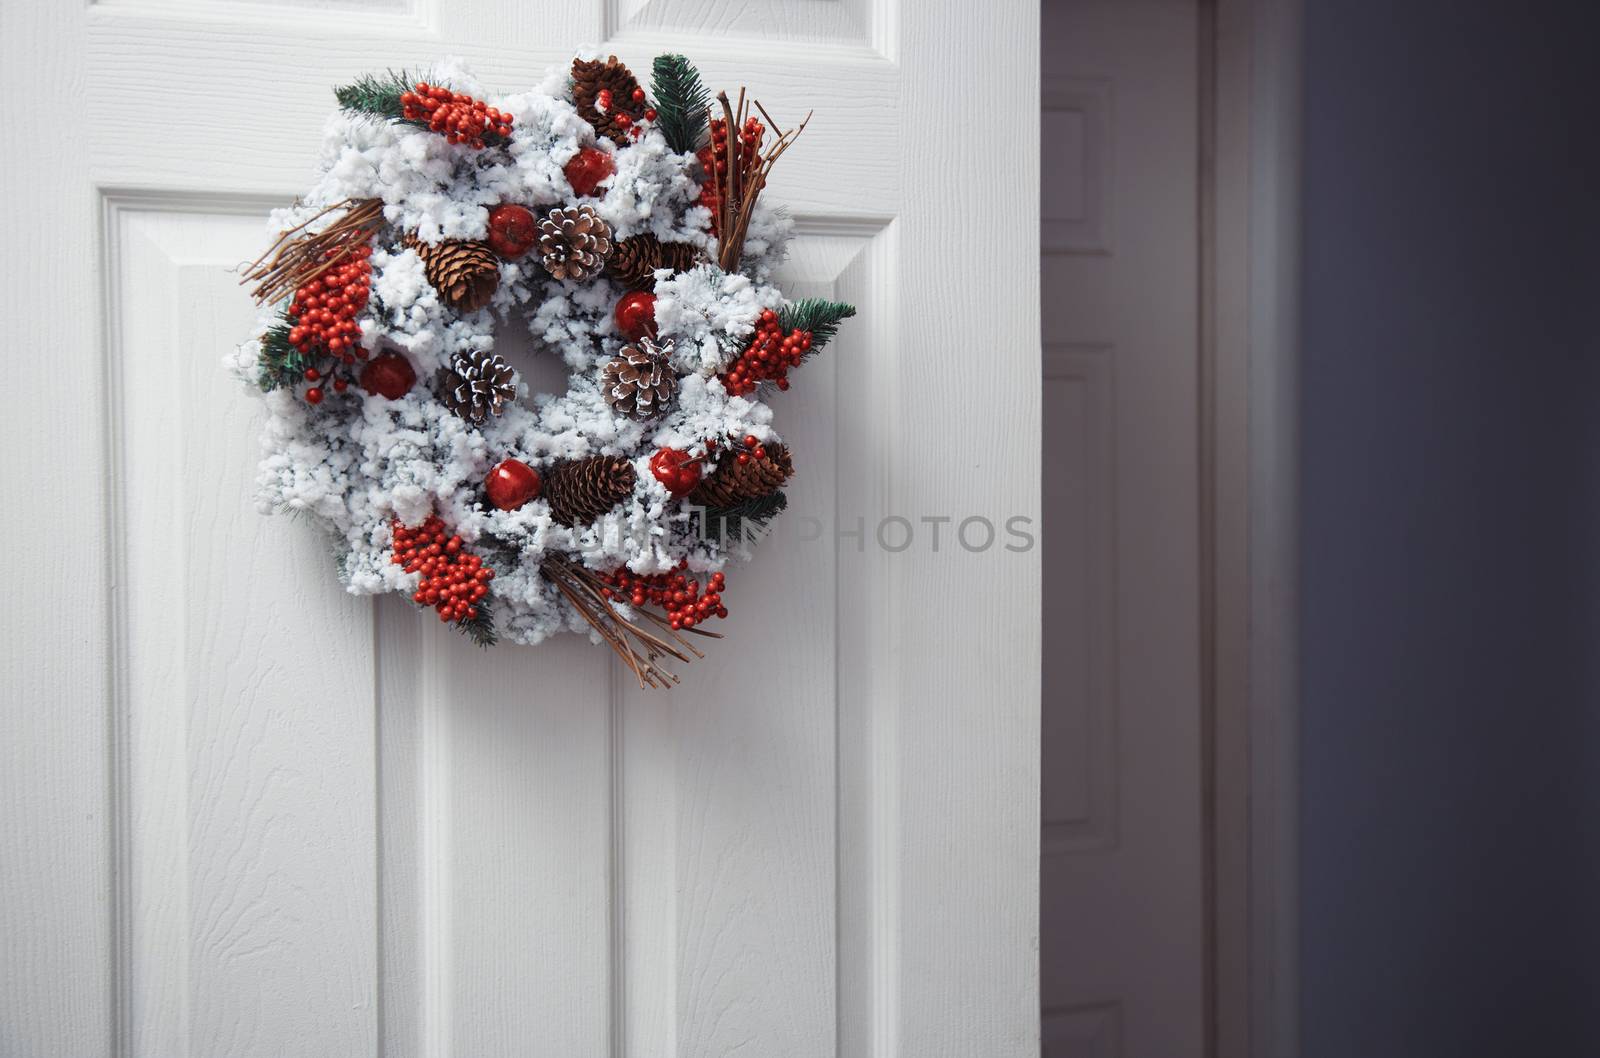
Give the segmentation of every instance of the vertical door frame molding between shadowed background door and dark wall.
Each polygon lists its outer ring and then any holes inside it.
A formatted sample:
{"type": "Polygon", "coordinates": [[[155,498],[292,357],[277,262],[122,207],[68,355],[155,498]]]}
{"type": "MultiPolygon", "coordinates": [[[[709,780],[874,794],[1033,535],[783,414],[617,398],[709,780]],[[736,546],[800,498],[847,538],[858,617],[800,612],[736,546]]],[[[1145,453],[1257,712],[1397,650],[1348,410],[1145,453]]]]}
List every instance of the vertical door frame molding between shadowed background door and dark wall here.
{"type": "Polygon", "coordinates": [[[1301,0],[1200,6],[1206,1053],[1293,1058],[1301,0]]]}

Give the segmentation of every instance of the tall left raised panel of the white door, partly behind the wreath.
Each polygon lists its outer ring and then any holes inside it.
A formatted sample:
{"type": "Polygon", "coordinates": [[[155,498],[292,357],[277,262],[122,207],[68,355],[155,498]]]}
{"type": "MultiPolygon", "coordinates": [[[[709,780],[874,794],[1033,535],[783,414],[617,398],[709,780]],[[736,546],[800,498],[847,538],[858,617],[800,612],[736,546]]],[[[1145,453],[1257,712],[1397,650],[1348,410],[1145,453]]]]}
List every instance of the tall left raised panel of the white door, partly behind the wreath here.
{"type": "Polygon", "coordinates": [[[150,200],[110,216],[125,1047],[370,1052],[371,603],[331,581],[320,535],[254,512],[256,440],[218,370],[253,319],[224,269],[261,213],[150,200]]]}

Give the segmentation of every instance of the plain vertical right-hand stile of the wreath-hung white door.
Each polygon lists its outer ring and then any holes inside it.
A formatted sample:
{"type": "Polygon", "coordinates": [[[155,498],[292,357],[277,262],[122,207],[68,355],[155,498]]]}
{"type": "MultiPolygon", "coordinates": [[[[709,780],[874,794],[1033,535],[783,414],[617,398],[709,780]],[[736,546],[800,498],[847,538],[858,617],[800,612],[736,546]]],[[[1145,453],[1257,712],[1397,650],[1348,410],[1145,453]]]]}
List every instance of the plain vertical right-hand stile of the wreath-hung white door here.
{"type": "MultiPolygon", "coordinates": [[[[995,202],[1038,229],[1038,19],[1037,3],[899,10],[899,123],[917,149],[899,154],[898,328],[875,381],[917,370],[918,384],[872,391],[891,405],[886,512],[1037,523],[1038,277],[963,266],[957,248],[995,237],[995,202]],[[963,130],[1002,114],[1005,149],[971,150],[963,130]],[[970,365],[957,351],[984,351],[984,370],[926,370],[970,365]]],[[[893,685],[874,704],[898,711],[888,1053],[1034,1055],[1038,552],[912,549],[877,565],[894,602],[874,656],[893,685]]]]}

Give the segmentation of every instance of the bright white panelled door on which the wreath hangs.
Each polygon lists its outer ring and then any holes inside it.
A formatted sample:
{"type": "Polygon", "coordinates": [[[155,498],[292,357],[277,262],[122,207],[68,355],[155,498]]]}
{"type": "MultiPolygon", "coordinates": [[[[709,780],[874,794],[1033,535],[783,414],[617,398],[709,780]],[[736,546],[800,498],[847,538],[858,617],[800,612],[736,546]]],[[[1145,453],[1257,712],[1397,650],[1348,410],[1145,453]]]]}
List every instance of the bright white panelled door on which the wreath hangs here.
{"type": "Polygon", "coordinates": [[[1005,251],[1037,34],[957,0],[6,0],[0,1053],[1035,1053],[1038,559],[875,527],[1037,517],[1005,251]],[[333,85],[458,54],[510,90],[582,43],[814,107],[770,192],[789,282],[862,309],[779,408],[827,544],[758,555],[670,695],[341,594],[254,512],[219,367],[333,85]]]}

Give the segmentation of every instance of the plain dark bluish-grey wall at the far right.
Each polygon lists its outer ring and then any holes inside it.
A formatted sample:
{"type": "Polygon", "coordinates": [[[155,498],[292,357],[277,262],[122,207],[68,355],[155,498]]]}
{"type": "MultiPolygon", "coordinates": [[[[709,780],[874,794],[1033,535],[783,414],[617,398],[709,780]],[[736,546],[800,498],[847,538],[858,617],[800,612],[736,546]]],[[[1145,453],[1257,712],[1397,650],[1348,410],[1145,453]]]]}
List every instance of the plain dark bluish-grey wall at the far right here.
{"type": "Polygon", "coordinates": [[[1600,1055],[1600,37],[1306,0],[1306,1058],[1600,1055]]]}

